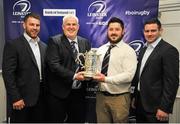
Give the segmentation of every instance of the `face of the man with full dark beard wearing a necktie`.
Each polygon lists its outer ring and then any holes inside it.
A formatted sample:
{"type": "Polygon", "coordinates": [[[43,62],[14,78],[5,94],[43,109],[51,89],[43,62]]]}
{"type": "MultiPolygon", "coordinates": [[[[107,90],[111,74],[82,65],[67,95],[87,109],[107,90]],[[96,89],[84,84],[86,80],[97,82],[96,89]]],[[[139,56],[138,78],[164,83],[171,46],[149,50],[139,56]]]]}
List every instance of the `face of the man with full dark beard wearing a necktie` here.
{"type": "Polygon", "coordinates": [[[124,30],[122,29],[120,23],[113,22],[108,26],[108,40],[110,43],[118,43],[124,35],[124,30]]]}

